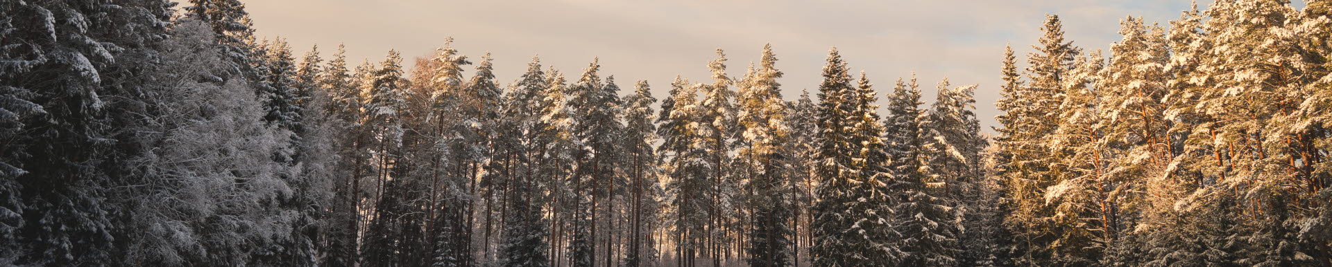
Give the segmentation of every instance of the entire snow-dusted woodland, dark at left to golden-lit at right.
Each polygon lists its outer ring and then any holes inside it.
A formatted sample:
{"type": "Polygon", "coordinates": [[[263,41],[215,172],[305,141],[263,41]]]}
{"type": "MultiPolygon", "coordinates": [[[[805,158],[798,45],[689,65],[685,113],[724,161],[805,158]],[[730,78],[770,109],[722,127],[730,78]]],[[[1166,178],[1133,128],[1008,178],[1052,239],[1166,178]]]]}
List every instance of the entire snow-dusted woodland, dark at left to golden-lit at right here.
{"type": "Polygon", "coordinates": [[[798,97],[771,46],[497,81],[452,39],[354,64],[181,5],[0,0],[0,266],[1332,266],[1327,0],[1106,52],[1050,15],[979,88],[834,48],[798,97]]]}

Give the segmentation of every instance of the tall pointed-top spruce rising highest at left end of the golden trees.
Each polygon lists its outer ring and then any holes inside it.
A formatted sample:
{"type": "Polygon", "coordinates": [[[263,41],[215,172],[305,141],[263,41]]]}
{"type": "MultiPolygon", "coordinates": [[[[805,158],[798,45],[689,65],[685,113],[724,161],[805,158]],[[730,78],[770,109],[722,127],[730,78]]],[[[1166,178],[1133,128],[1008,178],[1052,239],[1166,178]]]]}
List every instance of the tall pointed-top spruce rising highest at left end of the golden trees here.
{"type": "Polygon", "coordinates": [[[1060,86],[1072,69],[1072,58],[1080,53],[1072,41],[1064,41],[1059,16],[1047,15],[1042,25],[1044,35],[1027,57],[1027,82],[1012,70],[1012,57],[1006,57],[1003,98],[996,104],[1003,112],[998,117],[999,132],[998,175],[1004,178],[1010,198],[1007,227],[1016,234],[1014,251],[1019,264],[1043,264],[1048,259],[1047,244],[1056,238],[1048,218],[1052,210],[1043,202],[1044,189],[1055,183],[1050,174],[1050,150],[1042,137],[1058,126],[1055,110],[1063,102],[1060,86]]]}

